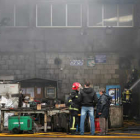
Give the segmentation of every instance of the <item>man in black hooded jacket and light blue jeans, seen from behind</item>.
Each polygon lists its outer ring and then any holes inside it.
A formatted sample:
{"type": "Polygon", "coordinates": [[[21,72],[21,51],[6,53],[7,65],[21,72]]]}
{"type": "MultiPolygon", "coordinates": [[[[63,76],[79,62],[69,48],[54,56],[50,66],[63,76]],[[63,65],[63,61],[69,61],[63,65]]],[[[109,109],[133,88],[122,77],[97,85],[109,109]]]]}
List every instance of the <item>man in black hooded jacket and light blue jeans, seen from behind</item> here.
{"type": "Polygon", "coordinates": [[[81,120],[80,120],[80,134],[84,135],[84,123],[85,118],[88,113],[90,117],[90,126],[91,126],[91,135],[95,133],[95,124],[94,124],[94,106],[97,103],[97,96],[93,88],[90,87],[90,82],[85,82],[85,88],[80,93],[81,101],[81,120]]]}

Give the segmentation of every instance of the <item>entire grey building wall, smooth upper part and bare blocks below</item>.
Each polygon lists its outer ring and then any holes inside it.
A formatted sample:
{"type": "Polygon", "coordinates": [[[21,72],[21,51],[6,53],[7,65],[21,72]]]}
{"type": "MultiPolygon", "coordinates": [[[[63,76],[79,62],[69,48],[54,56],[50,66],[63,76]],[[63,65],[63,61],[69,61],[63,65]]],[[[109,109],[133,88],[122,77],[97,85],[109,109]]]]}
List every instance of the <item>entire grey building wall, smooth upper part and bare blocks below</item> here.
{"type": "Polygon", "coordinates": [[[130,68],[139,69],[139,1],[129,0],[135,7],[135,23],[130,28],[87,27],[85,4],[88,1],[84,0],[79,1],[83,5],[81,28],[37,28],[36,2],[30,1],[31,26],[0,27],[0,75],[14,75],[16,80],[38,77],[59,80],[58,97],[64,99],[75,81],[83,83],[89,79],[93,85],[120,84],[123,87],[130,68]],[[88,58],[97,54],[105,54],[106,63],[88,67],[88,58]],[[131,62],[128,69],[119,67],[119,59],[124,56],[131,62]],[[62,63],[54,64],[55,58],[60,58],[62,63]],[[84,65],[70,66],[71,60],[84,60],[84,65]]]}

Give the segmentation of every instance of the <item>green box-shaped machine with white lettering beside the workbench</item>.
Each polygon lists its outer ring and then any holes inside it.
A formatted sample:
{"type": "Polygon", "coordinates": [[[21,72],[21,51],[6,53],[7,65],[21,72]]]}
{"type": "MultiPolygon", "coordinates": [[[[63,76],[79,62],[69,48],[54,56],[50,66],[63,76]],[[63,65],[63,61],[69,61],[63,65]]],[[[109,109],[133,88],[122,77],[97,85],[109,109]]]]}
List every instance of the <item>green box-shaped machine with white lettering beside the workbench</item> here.
{"type": "Polygon", "coordinates": [[[8,130],[14,134],[23,131],[33,133],[33,124],[31,116],[10,116],[8,118],[8,130]]]}

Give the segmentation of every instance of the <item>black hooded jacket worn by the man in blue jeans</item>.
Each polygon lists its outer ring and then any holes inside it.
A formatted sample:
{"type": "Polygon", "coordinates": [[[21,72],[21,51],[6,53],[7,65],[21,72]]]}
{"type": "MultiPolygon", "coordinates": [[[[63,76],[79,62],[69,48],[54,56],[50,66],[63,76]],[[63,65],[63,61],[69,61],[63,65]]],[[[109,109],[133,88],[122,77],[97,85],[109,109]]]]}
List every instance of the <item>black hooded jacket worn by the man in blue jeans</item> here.
{"type": "Polygon", "coordinates": [[[93,107],[98,99],[93,88],[84,88],[80,93],[81,106],[93,107]]]}

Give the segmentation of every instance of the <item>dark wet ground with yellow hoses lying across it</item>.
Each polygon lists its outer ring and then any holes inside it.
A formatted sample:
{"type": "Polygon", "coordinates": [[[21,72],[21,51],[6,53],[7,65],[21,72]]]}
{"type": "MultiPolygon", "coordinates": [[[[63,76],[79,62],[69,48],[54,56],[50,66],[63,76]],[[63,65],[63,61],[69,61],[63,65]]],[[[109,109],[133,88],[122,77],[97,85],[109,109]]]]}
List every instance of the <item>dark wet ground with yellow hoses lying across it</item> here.
{"type": "Polygon", "coordinates": [[[85,135],[70,135],[62,132],[48,132],[48,133],[35,133],[35,134],[10,134],[10,133],[0,133],[0,140],[87,140],[87,139],[123,139],[123,140],[133,140],[140,139],[140,122],[134,120],[124,121],[122,128],[112,128],[109,129],[109,133],[105,136],[99,136],[99,132],[96,131],[95,135],[90,135],[85,133],[85,135]]]}

